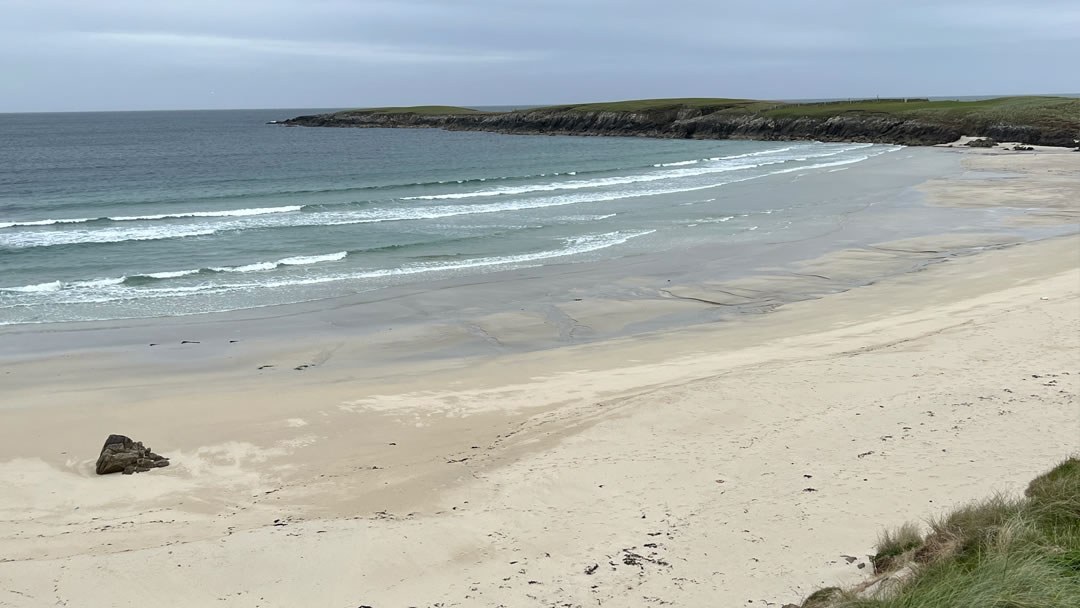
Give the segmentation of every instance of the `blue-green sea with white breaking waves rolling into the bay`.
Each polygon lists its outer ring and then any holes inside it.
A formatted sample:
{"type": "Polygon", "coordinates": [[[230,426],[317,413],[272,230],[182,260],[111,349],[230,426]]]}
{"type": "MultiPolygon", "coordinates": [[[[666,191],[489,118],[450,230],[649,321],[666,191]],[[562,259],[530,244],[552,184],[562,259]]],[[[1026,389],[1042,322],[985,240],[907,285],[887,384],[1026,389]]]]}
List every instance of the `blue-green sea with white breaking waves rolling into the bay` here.
{"type": "Polygon", "coordinates": [[[0,114],[0,324],[797,235],[850,210],[710,194],[900,149],[266,124],[312,111],[0,114]]]}

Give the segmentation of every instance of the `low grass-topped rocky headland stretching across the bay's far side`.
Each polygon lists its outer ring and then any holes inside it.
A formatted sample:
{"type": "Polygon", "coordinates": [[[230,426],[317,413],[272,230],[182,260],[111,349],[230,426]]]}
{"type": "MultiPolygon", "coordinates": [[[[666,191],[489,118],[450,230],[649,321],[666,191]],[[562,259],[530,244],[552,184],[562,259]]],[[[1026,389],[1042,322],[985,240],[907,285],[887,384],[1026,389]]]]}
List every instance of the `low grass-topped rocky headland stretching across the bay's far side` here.
{"type": "Polygon", "coordinates": [[[930,146],[963,135],[1077,146],[1080,99],[997,97],[977,102],[859,99],[638,99],[483,111],[454,106],[362,108],[278,121],[287,126],[407,127],[536,135],[697,139],[816,139],[930,146]]]}

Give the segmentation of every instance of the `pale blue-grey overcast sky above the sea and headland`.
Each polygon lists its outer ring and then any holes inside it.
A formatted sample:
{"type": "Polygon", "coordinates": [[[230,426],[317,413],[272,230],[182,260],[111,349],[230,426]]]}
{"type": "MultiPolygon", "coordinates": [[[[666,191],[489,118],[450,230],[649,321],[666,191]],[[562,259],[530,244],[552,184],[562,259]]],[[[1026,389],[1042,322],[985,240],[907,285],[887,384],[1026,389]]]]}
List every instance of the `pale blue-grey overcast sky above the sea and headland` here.
{"type": "Polygon", "coordinates": [[[1080,0],[4,0],[0,112],[1080,92],[1080,0]]]}

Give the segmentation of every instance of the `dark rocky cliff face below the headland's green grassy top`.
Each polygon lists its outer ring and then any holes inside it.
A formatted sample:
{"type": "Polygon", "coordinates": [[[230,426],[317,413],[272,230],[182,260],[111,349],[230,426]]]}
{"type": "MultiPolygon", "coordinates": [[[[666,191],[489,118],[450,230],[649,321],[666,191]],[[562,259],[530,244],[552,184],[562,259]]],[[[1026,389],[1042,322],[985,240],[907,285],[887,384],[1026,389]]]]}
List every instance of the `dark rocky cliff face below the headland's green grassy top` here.
{"type": "Polygon", "coordinates": [[[615,135],[701,139],[816,139],[927,146],[980,135],[1004,141],[1071,146],[1067,130],[989,123],[980,120],[932,122],[901,117],[851,112],[828,118],[726,114],[696,108],[621,112],[540,109],[483,113],[380,113],[345,111],[297,117],[281,124],[295,126],[411,127],[449,131],[544,135],[615,135]]]}

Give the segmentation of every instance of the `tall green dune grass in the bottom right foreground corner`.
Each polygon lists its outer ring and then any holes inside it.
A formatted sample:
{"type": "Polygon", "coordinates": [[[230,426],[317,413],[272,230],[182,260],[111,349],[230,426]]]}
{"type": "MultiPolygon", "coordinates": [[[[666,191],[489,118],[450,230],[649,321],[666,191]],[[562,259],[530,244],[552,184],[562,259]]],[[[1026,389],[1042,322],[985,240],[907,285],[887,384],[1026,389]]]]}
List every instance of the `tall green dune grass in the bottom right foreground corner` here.
{"type": "Polygon", "coordinates": [[[804,606],[1076,608],[1080,460],[1035,478],[1023,498],[995,496],[931,521],[924,538],[915,525],[883,533],[877,551],[888,569],[904,572],[882,596],[828,587],[826,597],[811,595],[804,606]]]}

